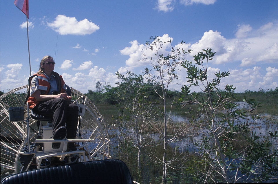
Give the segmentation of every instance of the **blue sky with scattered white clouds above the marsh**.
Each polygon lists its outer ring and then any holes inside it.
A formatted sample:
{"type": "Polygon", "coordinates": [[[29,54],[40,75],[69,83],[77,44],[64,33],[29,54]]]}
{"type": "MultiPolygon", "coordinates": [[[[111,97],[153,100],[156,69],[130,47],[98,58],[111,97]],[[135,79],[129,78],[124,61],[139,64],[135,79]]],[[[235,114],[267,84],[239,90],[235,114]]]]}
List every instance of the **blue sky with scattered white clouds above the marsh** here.
{"type": "MultiPolygon", "coordinates": [[[[208,76],[229,71],[221,82],[236,92],[278,86],[277,0],[29,0],[28,35],[32,75],[45,55],[54,58],[54,71],[65,83],[87,93],[96,82],[116,86],[115,73],[142,74],[151,36],[191,49],[185,59],[212,48],[208,76]]],[[[0,0],[0,90],[28,84],[30,76],[26,15],[14,0],[0,0]]],[[[188,84],[186,70],[170,89],[188,84]]],[[[199,92],[200,89],[192,88],[199,92]]]]}

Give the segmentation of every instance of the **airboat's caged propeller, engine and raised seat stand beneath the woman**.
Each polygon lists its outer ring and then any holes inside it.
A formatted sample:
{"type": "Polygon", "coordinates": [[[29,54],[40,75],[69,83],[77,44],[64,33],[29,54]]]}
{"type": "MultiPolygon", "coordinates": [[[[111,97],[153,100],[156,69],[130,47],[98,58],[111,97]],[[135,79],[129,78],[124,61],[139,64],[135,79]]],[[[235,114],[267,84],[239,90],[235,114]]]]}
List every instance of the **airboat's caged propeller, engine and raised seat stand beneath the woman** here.
{"type": "Polygon", "coordinates": [[[70,91],[80,112],[76,139],[60,140],[59,149],[51,147],[55,140],[49,139],[50,121],[32,116],[24,104],[28,85],[1,95],[1,180],[32,169],[111,158],[103,116],[86,95],[72,87],[70,91]],[[77,150],[67,152],[68,142],[74,142],[77,150]]]}

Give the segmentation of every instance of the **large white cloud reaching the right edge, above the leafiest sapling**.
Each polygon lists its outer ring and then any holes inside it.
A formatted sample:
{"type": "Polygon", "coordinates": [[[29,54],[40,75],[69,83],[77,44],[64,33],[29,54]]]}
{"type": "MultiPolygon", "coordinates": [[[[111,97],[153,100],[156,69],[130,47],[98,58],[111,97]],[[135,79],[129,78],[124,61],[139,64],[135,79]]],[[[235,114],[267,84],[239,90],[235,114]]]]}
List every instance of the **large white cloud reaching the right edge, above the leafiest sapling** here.
{"type": "Polygon", "coordinates": [[[241,61],[240,66],[258,62],[273,63],[278,60],[278,24],[268,23],[257,30],[243,25],[237,30],[236,38],[226,39],[220,32],[209,30],[191,45],[193,55],[202,49],[212,48],[216,52],[214,64],[241,61]]]}

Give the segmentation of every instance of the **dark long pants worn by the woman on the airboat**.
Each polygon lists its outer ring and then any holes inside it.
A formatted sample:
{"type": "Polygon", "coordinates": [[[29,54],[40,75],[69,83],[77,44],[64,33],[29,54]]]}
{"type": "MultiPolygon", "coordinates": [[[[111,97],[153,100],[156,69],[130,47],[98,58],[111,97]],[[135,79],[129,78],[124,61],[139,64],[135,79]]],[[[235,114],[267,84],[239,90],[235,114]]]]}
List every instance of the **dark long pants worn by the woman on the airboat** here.
{"type": "Polygon", "coordinates": [[[61,126],[67,128],[67,139],[76,138],[78,124],[78,106],[72,102],[67,102],[63,98],[54,98],[46,102],[41,102],[34,107],[41,115],[52,117],[53,133],[61,126]]]}

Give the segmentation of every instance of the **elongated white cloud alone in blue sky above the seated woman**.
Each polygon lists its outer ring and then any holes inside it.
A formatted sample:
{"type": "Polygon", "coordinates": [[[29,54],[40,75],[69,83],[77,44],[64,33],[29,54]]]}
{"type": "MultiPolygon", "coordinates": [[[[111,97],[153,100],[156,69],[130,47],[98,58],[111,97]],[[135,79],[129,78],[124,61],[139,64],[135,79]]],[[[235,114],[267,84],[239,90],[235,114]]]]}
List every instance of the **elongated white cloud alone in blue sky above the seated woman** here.
{"type": "Polygon", "coordinates": [[[58,15],[55,21],[47,23],[47,26],[60,35],[90,35],[99,30],[99,26],[88,19],[77,21],[75,17],[65,15],[58,15]]]}

